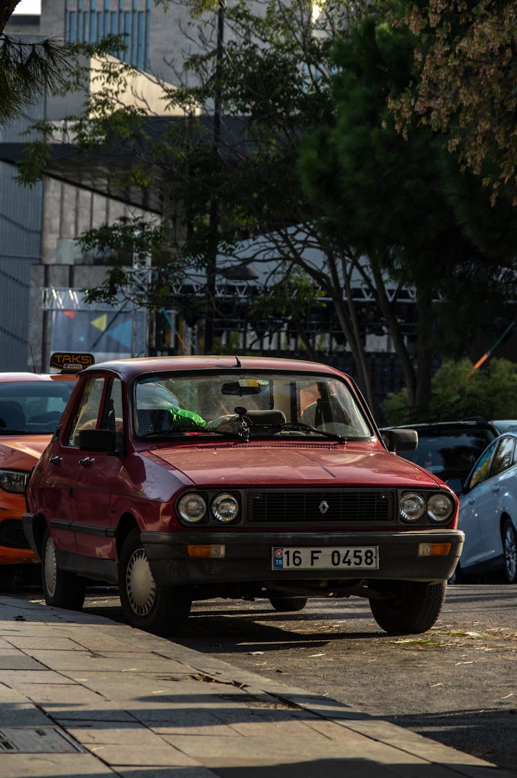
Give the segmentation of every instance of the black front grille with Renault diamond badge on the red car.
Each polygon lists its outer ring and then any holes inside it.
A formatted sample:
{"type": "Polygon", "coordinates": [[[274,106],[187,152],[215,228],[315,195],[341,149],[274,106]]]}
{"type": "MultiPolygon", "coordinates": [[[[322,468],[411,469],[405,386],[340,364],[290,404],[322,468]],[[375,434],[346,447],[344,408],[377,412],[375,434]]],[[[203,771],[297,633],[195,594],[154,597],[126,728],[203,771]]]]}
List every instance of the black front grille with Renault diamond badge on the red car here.
{"type": "Polygon", "coordinates": [[[247,496],[246,524],[394,524],[396,492],[384,489],[264,489],[247,496]]]}

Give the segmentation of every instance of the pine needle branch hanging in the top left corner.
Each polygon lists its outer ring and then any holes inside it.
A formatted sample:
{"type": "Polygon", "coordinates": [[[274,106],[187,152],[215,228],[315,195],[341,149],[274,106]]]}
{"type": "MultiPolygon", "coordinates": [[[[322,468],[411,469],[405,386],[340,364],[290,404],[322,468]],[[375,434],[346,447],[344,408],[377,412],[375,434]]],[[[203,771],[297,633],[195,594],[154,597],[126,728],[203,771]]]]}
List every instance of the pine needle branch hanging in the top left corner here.
{"type": "Polygon", "coordinates": [[[18,2],[0,0],[0,125],[12,121],[37,96],[65,85],[70,54],[70,47],[58,40],[29,43],[6,35],[5,25],[18,2]]]}

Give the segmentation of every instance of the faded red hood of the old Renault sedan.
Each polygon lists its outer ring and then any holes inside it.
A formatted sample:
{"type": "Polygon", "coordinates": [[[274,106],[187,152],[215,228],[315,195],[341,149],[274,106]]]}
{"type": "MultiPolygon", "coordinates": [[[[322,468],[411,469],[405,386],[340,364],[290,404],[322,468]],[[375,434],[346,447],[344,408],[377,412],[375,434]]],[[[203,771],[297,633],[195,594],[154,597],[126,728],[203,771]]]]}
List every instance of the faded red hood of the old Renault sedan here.
{"type": "Polygon", "coordinates": [[[346,447],[240,443],[166,447],[149,453],[197,486],[286,486],[306,482],[415,489],[441,483],[417,465],[365,443],[348,443],[346,447]]]}

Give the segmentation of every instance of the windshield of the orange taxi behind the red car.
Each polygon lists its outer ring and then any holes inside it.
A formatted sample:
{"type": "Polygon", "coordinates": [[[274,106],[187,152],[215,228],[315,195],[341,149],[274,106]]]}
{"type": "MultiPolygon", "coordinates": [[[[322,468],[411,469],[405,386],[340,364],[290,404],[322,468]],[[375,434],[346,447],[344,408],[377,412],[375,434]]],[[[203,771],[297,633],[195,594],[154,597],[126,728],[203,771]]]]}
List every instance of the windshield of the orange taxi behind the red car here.
{"type": "Polygon", "coordinates": [[[51,435],[75,381],[12,381],[0,384],[0,435],[51,435]]]}

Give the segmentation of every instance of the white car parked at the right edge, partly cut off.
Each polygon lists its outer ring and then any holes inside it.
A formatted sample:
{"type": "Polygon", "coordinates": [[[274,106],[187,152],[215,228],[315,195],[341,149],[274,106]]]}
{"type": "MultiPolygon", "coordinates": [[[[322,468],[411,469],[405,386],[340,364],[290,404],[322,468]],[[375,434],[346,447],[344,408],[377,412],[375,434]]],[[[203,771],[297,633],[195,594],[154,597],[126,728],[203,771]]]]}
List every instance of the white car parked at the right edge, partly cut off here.
{"type": "Polygon", "coordinates": [[[503,570],[517,584],[517,433],[493,440],[459,494],[463,552],[453,580],[503,570]]]}

